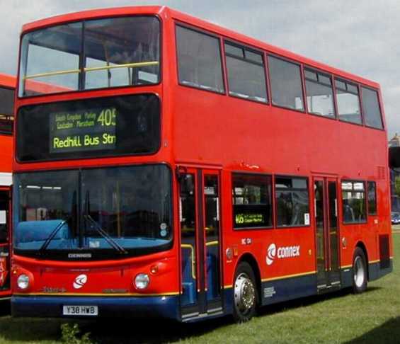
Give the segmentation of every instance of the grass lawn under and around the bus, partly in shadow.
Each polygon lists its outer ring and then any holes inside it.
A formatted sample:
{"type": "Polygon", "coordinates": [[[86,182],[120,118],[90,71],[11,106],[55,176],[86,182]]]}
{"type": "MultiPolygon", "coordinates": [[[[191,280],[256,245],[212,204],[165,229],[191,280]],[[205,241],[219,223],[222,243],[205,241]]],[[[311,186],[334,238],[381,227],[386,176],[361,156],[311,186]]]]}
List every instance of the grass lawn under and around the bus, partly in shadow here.
{"type": "MultiPolygon", "coordinates": [[[[400,229],[394,255],[400,256],[400,229]]],[[[194,325],[108,319],[78,321],[96,343],[400,343],[400,263],[371,282],[367,292],[338,292],[286,302],[262,310],[244,324],[230,319],[194,325]]],[[[5,312],[6,310],[4,310],[5,312]]],[[[0,317],[0,343],[60,343],[60,319],[0,317]]],[[[70,321],[76,323],[76,321],[70,321]]]]}

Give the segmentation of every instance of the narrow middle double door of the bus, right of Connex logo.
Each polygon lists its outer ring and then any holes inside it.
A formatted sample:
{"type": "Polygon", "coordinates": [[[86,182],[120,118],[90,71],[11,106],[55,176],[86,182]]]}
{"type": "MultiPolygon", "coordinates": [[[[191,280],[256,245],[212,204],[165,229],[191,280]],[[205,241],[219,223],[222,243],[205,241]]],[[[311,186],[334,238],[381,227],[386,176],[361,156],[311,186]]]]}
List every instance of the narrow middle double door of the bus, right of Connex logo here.
{"type": "Polygon", "coordinates": [[[317,290],[341,287],[336,178],[314,178],[317,290]]]}

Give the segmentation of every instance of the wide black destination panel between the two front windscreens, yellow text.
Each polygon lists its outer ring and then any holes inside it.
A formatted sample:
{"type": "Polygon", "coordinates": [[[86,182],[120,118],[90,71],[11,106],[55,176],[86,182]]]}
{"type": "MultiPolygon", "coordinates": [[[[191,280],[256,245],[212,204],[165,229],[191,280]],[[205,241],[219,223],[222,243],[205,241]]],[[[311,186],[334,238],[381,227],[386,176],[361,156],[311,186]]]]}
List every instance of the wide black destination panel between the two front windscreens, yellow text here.
{"type": "Polygon", "coordinates": [[[26,105],[16,116],[16,159],[154,154],[160,130],[160,102],[151,93],[26,105]]]}

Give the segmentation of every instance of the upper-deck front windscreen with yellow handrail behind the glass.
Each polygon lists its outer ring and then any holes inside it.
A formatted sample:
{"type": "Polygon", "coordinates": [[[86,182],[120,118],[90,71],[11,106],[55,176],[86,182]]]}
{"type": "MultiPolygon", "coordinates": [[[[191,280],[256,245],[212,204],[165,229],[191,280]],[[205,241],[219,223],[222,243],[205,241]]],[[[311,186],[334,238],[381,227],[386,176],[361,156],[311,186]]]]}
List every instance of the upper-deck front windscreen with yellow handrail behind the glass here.
{"type": "Polygon", "coordinates": [[[79,21],[26,33],[18,96],[157,84],[159,46],[155,16],[79,21]]]}

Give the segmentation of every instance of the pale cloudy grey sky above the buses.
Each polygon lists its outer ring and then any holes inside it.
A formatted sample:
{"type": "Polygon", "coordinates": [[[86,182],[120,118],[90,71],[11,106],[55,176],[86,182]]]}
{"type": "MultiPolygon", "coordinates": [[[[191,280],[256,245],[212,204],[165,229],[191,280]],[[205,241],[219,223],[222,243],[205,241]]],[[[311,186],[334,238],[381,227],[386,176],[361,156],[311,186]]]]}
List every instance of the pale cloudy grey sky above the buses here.
{"type": "Polygon", "coordinates": [[[0,72],[16,74],[23,23],[91,8],[166,5],[377,81],[400,134],[399,0],[0,0],[0,72]]]}

